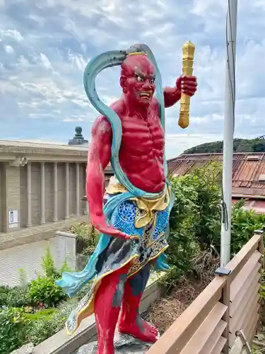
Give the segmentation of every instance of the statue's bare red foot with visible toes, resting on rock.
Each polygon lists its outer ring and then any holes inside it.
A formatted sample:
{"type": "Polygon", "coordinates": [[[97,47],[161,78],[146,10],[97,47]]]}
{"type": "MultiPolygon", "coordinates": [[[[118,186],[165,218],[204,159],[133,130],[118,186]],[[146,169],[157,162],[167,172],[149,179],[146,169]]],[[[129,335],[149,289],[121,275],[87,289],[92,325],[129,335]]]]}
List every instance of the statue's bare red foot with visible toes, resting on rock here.
{"type": "Polygon", "coordinates": [[[160,337],[158,329],[156,329],[155,326],[148,324],[148,322],[143,321],[141,316],[137,316],[136,321],[132,324],[119,324],[119,333],[129,334],[130,336],[147,343],[155,343],[160,337]]]}

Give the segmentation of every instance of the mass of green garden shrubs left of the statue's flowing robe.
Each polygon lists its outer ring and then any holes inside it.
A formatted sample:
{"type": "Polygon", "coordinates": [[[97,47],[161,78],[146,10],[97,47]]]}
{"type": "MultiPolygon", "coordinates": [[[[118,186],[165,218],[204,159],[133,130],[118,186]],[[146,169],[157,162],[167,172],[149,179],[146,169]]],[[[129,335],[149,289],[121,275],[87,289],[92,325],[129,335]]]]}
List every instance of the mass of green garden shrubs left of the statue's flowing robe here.
{"type": "Polygon", "coordinates": [[[77,302],[76,298],[57,307],[66,295],[55,281],[63,271],[70,270],[67,261],[57,270],[47,249],[42,268],[45,275],[38,275],[30,284],[20,270],[20,287],[0,287],[1,354],[11,353],[25,343],[36,345],[63,329],[73,303],[77,302]]]}

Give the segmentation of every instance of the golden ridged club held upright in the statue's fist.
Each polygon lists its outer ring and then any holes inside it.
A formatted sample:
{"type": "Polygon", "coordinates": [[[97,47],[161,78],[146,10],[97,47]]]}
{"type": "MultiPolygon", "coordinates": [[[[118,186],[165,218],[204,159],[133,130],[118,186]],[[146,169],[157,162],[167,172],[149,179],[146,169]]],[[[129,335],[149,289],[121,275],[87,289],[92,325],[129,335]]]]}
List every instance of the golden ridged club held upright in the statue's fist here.
{"type": "MultiPolygon", "coordinates": [[[[192,76],[194,62],[195,45],[192,42],[187,42],[182,48],[182,74],[192,76]]],[[[190,97],[182,93],[179,109],[179,127],[189,127],[189,104],[190,97]]]]}

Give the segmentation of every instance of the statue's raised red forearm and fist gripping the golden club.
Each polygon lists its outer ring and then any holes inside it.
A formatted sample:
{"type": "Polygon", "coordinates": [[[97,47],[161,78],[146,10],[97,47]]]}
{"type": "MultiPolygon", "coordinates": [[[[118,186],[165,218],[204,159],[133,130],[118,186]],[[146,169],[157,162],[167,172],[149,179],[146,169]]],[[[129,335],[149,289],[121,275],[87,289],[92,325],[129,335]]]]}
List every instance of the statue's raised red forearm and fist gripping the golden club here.
{"type": "Polygon", "coordinates": [[[175,105],[175,103],[180,100],[182,92],[192,97],[196,92],[196,89],[196,76],[179,76],[175,87],[165,87],[164,89],[165,108],[175,105]]]}

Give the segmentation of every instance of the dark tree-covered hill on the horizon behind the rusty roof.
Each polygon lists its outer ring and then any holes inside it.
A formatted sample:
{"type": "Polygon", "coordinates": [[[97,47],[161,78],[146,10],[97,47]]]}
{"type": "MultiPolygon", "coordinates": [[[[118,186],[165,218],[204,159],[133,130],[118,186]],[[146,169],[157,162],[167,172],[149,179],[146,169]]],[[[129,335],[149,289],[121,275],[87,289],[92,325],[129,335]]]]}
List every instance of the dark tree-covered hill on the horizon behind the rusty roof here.
{"type": "MultiPolygon", "coordinates": [[[[214,152],[223,152],[223,141],[206,142],[185,150],[184,154],[211,154],[214,152]]],[[[265,152],[265,135],[255,139],[235,138],[234,152],[265,152]]]]}

